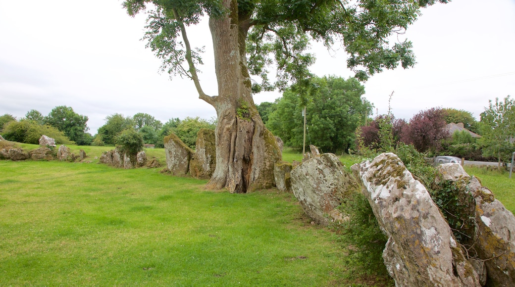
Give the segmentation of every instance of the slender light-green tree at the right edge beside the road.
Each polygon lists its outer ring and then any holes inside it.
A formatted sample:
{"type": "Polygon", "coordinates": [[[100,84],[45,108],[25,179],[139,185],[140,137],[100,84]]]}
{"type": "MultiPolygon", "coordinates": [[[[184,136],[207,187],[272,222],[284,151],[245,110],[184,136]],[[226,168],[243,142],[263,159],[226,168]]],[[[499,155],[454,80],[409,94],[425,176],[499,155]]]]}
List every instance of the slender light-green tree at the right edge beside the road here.
{"type": "Polygon", "coordinates": [[[511,152],[515,151],[510,142],[515,138],[515,101],[510,96],[504,101],[489,100],[480,122],[483,136],[479,144],[483,146],[483,155],[496,157],[501,167],[501,161],[511,159],[511,152]]]}

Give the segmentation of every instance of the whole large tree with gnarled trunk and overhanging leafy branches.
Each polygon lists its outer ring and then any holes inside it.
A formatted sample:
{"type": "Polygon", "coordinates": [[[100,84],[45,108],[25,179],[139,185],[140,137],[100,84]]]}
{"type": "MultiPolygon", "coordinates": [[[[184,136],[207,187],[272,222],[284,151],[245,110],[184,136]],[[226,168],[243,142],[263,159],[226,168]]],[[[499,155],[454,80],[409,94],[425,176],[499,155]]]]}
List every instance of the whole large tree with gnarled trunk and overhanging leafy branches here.
{"type": "MultiPolygon", "coordinates": [[[[384,68],[415,63],[411,43],[388,39],[416,20],[420,8],[448,0],[126,0],[130,15],[149,15],[145,39],[163,59],[163,70],[188,77],[199,98],[217,113],[216,170],[209,187],[245,192],[273,182],[279,153],[255,108],[252,92],[308,83],[307,52],[312,40],[331,47],[341,42],[347,66],[366,79],[384,68]],[[148,5],[147,4],[152,4],[148,5]],[[200,50],[192,49],[186,26],[209,16],[218,95],[202,90],[197,77],[200,50]],[[276,82],[267,68],[277,67],[276,82]],[[250,75],[260,76],[252,82],[250,75]]],[[[306,84],[307,85],[307,84],[306,84]]]]}

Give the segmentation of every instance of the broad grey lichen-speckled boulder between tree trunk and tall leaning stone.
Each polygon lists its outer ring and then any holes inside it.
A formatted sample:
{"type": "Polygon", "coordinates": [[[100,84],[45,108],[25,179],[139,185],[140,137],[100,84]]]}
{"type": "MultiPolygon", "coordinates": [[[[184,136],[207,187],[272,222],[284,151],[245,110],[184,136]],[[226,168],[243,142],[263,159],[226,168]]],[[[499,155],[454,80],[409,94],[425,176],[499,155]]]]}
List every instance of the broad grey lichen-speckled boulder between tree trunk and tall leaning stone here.
{"type": "Polygon", "coordinates": [[[352,174],[345,171],[332,153],[306,160],[291,170],[290,176],[291,190],[302,209],[321,225],[341,220],[342,214],[337,207],[357,189],[352,174]]]}

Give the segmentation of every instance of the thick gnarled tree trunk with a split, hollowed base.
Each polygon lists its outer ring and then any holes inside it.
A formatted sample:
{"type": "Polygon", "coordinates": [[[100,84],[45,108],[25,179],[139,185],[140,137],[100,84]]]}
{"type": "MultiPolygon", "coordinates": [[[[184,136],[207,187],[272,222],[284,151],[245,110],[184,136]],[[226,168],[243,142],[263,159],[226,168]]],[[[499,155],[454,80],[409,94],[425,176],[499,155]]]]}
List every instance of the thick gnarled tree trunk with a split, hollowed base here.
{"type": "Polygon", "coordinates": [[[246,29],[239,25],[237,2],[224,0],[227,17],[209,21],[213,38],[218,96],[211,104],[217,114],[216,169],[208,188],[246,192],[273,186],[273,165],[281,153],[254,105],[248,73],[246,29]]]}

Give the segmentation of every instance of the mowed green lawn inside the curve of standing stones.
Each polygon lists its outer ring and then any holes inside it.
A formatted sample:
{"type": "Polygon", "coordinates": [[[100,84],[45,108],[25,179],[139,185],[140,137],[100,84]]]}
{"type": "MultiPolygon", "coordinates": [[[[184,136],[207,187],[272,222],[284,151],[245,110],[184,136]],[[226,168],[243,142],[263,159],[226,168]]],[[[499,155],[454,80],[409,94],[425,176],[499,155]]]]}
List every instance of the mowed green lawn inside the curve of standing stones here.
{"type": "Polygon", "coordinates": [[[0,161],[0,286],[328,286],[345,250],[292,194],[94,163],[0,161]]]}

